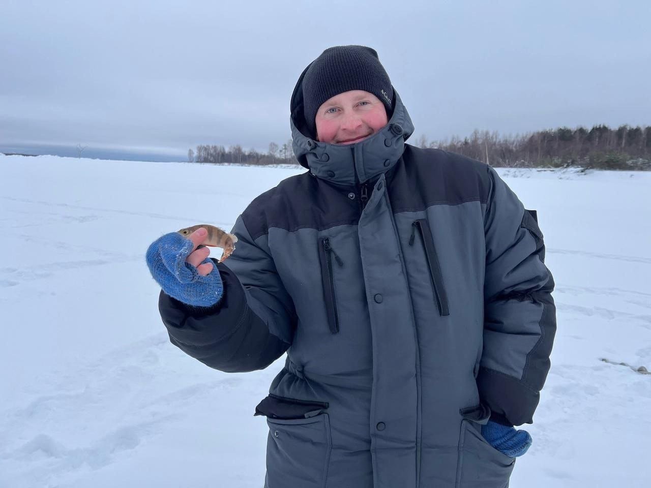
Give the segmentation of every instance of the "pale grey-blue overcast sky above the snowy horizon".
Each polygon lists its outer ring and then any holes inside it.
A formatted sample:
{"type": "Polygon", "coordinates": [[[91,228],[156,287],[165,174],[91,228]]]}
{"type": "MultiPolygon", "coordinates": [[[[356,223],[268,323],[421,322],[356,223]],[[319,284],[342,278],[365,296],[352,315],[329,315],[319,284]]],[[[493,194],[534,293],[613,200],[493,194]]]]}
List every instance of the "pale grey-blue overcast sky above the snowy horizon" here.
{"type": "Polygon", "coordinates": [[[649,125],[650,25],[648,0],[0,0],[0,151],[266,151],[341,44],[378,51],[414,139],[649,125]]]}

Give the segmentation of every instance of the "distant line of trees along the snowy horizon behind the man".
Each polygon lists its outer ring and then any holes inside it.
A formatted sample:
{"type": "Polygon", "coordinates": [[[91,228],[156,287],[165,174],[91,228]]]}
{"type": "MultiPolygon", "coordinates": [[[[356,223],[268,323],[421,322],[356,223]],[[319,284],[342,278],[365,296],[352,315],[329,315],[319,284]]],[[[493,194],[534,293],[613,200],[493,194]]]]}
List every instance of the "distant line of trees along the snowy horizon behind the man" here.
{"type": "MultiPolygon", "coordinates": [[[[651,126],[562,127],[515,136],[475,130],[463,139],[453,136],[443,141],[428,141],[421,135],[412,143],[421,148],[463,154],[494,167],[651,170],[651,126]]],[[[255,149],[245,151],[239,144],[228,149],[200,145],[196,150],[188,150],[187,160],[217,165],[298,165],[291,139],[281,146],[271,142],[266,153],[255,149]]]]}

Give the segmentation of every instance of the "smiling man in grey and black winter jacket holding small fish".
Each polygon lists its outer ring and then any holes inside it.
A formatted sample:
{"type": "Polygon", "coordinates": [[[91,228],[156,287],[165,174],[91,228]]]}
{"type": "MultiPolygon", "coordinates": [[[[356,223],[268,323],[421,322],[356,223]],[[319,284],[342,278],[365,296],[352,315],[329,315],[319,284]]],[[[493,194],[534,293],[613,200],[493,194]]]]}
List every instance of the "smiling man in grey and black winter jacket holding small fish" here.
{"type": "Polygon", "coordinates": [[[287,353],[255,409],[268,488],[508,486],[556,329],[536,212],[492,167],[406,144],[368,47],[309,64],[290,125],[308,171],[238,216],[229,260],[199,232],[150,246],[171,342],[223,372],[287,353]]]}

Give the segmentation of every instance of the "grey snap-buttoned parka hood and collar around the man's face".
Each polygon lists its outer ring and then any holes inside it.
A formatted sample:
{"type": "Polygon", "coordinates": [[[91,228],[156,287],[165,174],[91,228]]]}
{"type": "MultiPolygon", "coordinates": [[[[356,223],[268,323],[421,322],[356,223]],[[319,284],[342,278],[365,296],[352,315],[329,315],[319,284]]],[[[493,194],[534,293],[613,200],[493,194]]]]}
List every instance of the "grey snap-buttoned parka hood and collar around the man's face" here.
{"type": "Polygon", "coordinates": [[[309,135],[303,115],[303,77],[307,68],[294,87],[290,103],[292,147],[300,165],[318,178],[345,184],[364,183],[391,169],[413,133],[413,123],[395,88],[393,114],[378,132],[355,144],[319,142],[309,135]]]}

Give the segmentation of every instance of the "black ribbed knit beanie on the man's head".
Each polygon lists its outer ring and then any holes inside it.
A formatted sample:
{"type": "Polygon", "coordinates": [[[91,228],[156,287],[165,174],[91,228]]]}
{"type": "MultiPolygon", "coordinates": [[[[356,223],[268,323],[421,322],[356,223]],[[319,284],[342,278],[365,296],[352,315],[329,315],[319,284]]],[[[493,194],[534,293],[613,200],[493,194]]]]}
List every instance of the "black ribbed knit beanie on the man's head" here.
{"type": "Polygon", "coordinates": [[[312,61],[303,77],[303,114],[311,135],[316,136],[314,118],[322,103],[349,90],[374,94],[393,113],[393,87],[375,49],[366,46],[335,46],[312,61]]]}

